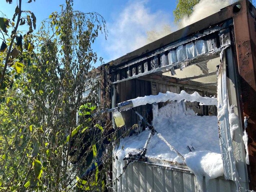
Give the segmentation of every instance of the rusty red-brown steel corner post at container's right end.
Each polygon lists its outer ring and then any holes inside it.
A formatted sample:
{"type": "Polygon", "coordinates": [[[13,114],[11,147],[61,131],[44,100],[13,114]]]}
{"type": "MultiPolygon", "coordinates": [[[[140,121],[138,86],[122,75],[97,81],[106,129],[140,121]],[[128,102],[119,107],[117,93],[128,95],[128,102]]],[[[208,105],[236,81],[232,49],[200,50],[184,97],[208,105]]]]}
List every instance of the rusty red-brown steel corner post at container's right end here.
{"type": "Polygon", "coordinates": [[[250,189],[256,190],[256,10],[249,1],[238,2],[234,9],[235,46],[241,88],[242,119],[249,117],[248,153],[250,189]]]}

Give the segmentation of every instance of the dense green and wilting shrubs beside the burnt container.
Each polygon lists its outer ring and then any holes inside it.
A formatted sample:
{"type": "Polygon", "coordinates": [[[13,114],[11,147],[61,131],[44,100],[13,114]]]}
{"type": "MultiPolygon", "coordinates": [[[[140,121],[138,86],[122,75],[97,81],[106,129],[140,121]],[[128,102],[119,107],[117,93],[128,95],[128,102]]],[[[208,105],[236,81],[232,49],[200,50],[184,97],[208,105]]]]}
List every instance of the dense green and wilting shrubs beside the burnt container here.
{"type": "MultiPolygon", "coordinates": [[[[66,0],[61,12],[52,13],[33,34],[36,13],[22,10],[23,3],[27,2],[18,0],[13,20],[4,14],[0,17],[0,191],[74,191],[76,176],[85,169],[93,144],[109,148],[102,143],[114,137],[106,114],[99,113],[109,107],[109,87],[99,104],[102,77],[96,78],[92,67],[98,60],[102,62],[91,45],[99,33],[106,35],[106,22],[98,13],[73,10],[73,0],[66,0]],[[28,26],[26,33],[18,30],[23,24],[28,26]],[[87,88],[91,92],[83,99],[87,88]],[[83,118],[83,106],[88,102],[99,105],[90,120],[83,118]],[[96,125],[104,130],[90,138],[81,160],[70,164],[71,142],[77,149],[74,156],[79,155],[81,140],[96,125]]],[[[90,186],[90,179],[96,177],[92,173],[85,187],[103,190],[101,182],[112,161],[111,148],[108,151],[102,155],[104,166],[96,185],[90,186]]],[[[110,185],[106,183],[105,188],[110,185]]]]}

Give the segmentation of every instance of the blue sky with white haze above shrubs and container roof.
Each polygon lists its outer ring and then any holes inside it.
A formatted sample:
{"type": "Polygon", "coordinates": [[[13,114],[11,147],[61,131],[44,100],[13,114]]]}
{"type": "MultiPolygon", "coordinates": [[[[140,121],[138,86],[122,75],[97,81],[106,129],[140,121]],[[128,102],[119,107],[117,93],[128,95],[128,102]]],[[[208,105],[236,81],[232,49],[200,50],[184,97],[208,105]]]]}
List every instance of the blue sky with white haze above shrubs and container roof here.
{"type": "MultiPolygon", "coordinates": [[[[43,19],[54,11],[60,11],[59,5],[65,0],[26,2],[23,0],[22,10],[31,10],[35,14],[38,29],[43,19]]],[[[16,0],[12,4],[1,0],[0,11],[12,18],[16,5],[16,0]]],[[[74,0],[74,10],[98,12],[106,20],[107,40],[100,35],[93,45],[105,63],[149,43],[147,31],[161,31],[164,26],[173,26],[175,6],[176,0],[74,0]]]]}

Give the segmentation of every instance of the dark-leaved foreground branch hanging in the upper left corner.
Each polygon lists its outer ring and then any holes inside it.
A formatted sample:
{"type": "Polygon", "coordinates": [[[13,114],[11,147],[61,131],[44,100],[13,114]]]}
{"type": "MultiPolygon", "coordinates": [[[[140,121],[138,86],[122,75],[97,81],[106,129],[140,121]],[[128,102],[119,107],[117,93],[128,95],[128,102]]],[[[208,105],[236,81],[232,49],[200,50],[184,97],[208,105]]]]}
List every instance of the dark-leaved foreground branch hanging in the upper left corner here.
{"type": "MultiPolygon", "coordinates": [[[[6,3],[12,3],[12,0],[6,0],[6,3]]],[[[0,35],[2,35],[0,37],[2,40],[0,48],[0,93],[3,93],[1,94],[0,102],[5,100],[4,93],[9,88],[12,88],[13,81],[22,72],[23,67],[26,66],[23,61],[26,53],[23,52],[22,43],[23,40],[31,38],[29,34],[33,32],[32,27],[36,28],[35,14],[21,8],[22,0],[18,0],[12,20],[8,19],[4,14],[3,17],[0,17],[0,35]],[[26,35],[22,36],[22,32],[18,31],[18,26],[25,23],[27,23],[28,31],[26,35]]],[[[31,50],[31,47],[26,49],[26,51],[31,50]]]]}

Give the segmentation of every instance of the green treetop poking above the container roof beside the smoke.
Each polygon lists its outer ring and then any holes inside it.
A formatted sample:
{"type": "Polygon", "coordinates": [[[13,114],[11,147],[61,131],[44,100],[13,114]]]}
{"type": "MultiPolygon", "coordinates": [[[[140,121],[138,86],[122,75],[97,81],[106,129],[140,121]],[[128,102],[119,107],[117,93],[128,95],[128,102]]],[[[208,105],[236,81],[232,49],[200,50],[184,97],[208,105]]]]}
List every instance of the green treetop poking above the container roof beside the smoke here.
{"type": "Polygon", "coordinates": [[[193,12],[193,7],[199,3],[200,0],[177,0],[176,9],[173,11],[174,22],[178,24],[180,20],[189,16],[193,12]]]}

